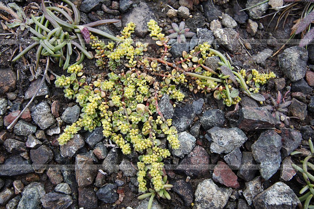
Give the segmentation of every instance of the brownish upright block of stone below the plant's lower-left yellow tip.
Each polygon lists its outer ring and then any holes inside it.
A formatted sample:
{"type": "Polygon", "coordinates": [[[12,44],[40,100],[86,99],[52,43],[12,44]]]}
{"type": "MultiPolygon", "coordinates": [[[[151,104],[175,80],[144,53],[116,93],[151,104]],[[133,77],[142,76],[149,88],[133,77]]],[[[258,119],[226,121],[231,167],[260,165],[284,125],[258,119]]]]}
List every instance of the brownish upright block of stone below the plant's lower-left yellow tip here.
{"type": "Polygon", "coordinates": [[[77,166],[93,165],[93,159],[84,155],[76,155],[75,158],[75,177],[78,186],[85,187],[91,185],[95,179],[95,170],[78,169],[77,166]]]}

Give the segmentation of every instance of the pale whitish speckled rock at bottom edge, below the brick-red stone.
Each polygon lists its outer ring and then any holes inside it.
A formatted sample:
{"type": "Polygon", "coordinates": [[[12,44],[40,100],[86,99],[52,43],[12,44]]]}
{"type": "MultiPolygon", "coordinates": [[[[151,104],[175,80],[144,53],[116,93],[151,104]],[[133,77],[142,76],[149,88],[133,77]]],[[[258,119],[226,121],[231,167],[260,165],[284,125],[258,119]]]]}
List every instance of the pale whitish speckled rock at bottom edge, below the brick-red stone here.
{"type": "Polygon", "coordinates": [[[194,208],[222,209],[227,204],[231,193],[231,188],[219,187],[211,179],[203,180],[195,191],[194,208]]]}

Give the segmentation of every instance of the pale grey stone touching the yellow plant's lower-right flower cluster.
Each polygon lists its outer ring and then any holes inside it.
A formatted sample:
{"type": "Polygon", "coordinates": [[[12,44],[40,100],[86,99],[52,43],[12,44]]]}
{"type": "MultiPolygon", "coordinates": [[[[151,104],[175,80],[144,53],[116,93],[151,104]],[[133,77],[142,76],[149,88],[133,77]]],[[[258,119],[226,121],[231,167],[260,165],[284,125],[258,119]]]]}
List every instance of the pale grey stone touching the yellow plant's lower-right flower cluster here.
{"type": "Polygon", "coordinates": [[[195,147],[196,138],[187,132],[178,133],[180,141],[179,149],[171,149],[171,154],[183,158],[184,155],[189,154],[195,147]]]}

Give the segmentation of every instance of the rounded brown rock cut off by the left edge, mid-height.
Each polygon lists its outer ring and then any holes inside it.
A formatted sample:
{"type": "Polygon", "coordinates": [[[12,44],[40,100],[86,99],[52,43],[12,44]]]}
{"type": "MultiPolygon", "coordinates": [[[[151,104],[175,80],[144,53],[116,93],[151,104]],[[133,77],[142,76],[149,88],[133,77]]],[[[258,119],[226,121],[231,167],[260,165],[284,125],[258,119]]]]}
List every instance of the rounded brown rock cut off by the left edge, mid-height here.
{"type": "Polygon", "coordinates": [[[17,81],[16,73],[10,69],[0,69],[0,74],[0,95],[14,91],[17,81]]]}

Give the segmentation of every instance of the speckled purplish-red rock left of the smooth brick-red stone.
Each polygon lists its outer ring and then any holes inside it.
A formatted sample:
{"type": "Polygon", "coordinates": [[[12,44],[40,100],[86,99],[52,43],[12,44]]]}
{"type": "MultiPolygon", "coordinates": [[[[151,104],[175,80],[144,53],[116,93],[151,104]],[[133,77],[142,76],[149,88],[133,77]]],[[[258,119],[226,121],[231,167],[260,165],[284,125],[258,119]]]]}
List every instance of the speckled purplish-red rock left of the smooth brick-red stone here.
{"type": "MultiPolygon", "coordinates": [[[[209,165],[209,154],[201,146],[196,146],[193,151],[188,154],[180,163],[182,165],[209,165]]],[[[192,170],[192,169],[182,169],[177,170],[177,172],[184,173],[191,178],[208,178],[210,177],[209,170],[192,170]]]]}

